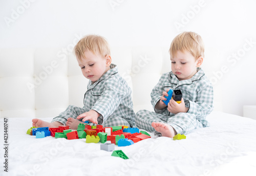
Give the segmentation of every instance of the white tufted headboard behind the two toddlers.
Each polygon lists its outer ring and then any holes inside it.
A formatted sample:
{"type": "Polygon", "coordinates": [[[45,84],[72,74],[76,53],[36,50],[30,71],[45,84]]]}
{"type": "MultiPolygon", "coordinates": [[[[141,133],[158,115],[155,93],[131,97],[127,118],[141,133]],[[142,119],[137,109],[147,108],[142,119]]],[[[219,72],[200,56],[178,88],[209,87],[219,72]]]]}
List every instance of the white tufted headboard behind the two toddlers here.
{"type": "MultiPolygon", "coordinates": [[[[5,48],[0,51],[0,117],[55,117],[83,106],[88,80],[72,49],[5,48]]],[[[150,93],[170,71],[168,48],[112,47],[112,63],[133,91],[134,110],[153,110],[150,93]]]]}

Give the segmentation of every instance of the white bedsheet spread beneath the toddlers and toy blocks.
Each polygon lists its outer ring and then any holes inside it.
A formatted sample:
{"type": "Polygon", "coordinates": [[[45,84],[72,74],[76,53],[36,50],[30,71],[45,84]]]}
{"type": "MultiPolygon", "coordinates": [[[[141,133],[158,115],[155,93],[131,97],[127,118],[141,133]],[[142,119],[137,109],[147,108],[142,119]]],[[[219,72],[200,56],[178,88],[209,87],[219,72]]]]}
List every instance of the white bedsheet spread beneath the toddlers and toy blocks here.
{"type": "MultiPolygon", "coordinates": [[[[134,145],[115,146],[127,160],[86,139],[36,139],[26,134],[31,120],[8,118],[8,175],[256,175],[256,120],[245,117],[212,112],[211,127],[194,130],[186,139],[151,133],[152,138],[134,145]]],[[[0,155],[3,163],[3,150],[0,155]]],[[[0,174],[7,175],[3,167],[0,174]]]]}

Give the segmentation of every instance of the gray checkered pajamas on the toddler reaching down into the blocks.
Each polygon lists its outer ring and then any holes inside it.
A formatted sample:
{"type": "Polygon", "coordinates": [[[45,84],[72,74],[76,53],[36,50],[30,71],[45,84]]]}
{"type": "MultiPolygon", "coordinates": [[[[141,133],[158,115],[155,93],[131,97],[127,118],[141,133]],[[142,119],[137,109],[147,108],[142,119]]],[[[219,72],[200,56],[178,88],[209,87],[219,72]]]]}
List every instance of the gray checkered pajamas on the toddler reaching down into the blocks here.
{"type": "Polygon", "coordinates": [[[111,64],[110,68],[94,84],[89,81],[88,90],[84,94],[83,108],[69,106],[66,111],[60,113],[52,122],[59,121],[66,124],[69,117],[76,118],[84,112],[95,110],[101,114],[98,117],[98,123],[104,127],[117,125],[135,127],[132,90],[118,74],[116,65],[111,64]]]}

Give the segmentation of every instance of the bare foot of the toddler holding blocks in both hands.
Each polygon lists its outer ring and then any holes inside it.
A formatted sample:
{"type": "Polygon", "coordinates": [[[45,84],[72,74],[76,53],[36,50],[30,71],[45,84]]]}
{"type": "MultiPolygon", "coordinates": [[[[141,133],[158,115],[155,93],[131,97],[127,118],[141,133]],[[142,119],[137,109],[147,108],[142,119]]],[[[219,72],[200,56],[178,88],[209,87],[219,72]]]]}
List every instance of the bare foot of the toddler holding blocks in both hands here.
{"type": "Polygon", "coordinates": [[[152,122],[151,125],[156,131],[160,132],[164,137],[173,138],[177,134],[174,128],[169,124],[161,122],[152,122]]]}

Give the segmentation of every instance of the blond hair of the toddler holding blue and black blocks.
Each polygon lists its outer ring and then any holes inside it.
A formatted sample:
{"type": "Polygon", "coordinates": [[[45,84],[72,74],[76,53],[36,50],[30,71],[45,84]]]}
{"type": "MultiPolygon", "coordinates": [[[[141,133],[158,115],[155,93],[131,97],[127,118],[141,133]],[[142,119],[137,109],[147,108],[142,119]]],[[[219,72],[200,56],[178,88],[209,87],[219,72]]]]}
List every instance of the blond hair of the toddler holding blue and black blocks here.
{"type": "Polygon", "coordinates": [[[183,32],[177,35],[170,44],[169,54],[175,57],[178,51],[189,52],[196,59],[204,57],[202,37],[194,32],[183,32]]]}

